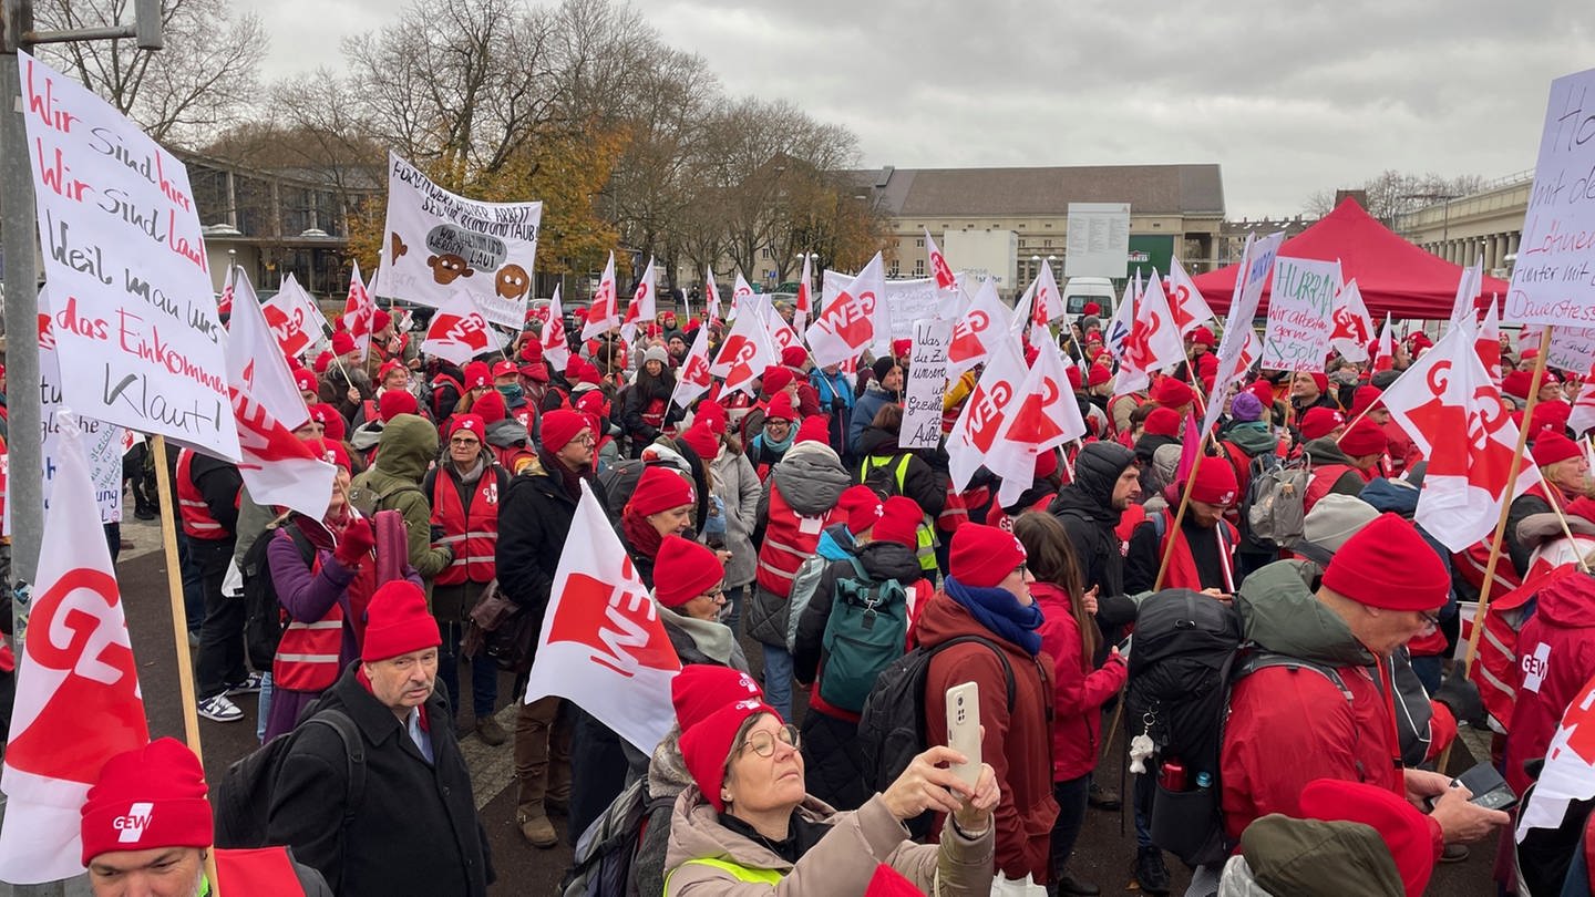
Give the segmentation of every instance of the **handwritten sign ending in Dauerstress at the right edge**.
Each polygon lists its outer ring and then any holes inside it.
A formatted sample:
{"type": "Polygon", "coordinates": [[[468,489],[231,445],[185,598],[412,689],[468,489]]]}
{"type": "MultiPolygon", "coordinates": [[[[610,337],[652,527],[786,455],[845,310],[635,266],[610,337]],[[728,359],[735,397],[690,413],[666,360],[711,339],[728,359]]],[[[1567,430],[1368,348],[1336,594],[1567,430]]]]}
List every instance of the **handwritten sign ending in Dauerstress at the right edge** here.
{"type": "Polygon", "coordinates": [[[1534,190],[1501,321],[1595,326],[1592,286],[1595,69],[1550,81],[1534,190]]]}

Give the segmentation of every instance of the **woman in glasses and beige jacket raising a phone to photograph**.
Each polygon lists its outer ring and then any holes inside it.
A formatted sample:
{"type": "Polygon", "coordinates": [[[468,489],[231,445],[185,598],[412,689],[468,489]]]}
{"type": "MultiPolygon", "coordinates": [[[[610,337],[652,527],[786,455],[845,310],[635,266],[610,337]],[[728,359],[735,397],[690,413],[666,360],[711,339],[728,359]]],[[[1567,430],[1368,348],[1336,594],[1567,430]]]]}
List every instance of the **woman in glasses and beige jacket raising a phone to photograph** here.
{"type": "Polygon", "coordinates": [[[695,787],[670,820],[667,897],[863,894],[880,863],[925,894],[989,894],[1000,792],[983,765],[970,787],[941,765],[967,758],[949,747],[920,753],[857,811],[837,812],[804,792],[798,728],[759,697],[702,718],[681,715],[681,758],[695,787]],[[931,844],[909,840],[904,820],[949,814],[931,844]]]}

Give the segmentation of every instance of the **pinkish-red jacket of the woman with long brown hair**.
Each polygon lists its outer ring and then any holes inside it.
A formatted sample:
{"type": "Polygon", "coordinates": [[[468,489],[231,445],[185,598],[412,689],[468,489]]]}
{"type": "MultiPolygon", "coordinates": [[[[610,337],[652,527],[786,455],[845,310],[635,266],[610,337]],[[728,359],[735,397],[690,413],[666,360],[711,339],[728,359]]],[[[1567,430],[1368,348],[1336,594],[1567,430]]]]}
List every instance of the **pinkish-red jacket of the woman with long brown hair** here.
{"type": "Polygon", "coordinates": [[[1067,782],[1096,769],[1102,753],[1102,704],[1129,675],[1123,661],[1109,659],[1086,674],[1080,666],[1085,645],[1069,595],[1051,583],[1034,583],[1030,594],[1042,605],[1042,653],[1053,658],[1053,780],[1067,782]]]}

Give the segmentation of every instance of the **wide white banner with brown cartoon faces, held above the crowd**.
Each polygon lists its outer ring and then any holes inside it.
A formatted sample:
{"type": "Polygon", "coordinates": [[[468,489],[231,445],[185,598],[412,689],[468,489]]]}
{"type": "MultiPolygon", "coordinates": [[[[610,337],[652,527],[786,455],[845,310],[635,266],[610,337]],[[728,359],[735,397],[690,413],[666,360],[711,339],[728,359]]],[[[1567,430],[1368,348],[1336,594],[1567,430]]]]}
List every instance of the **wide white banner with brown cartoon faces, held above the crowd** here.
{"type": "Polygon", "coordinates": [[[518,330],[541,225],[542,203],[466,200],[388,153],[381,294],[442,308],[469,286],[488,321],[518,330]]]}

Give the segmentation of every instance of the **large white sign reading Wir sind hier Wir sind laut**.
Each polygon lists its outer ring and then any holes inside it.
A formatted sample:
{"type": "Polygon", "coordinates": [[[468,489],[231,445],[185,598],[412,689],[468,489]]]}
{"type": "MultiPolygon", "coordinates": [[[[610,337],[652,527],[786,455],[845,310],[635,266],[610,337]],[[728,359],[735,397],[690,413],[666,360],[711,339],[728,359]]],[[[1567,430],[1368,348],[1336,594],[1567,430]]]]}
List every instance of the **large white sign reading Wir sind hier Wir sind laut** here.
{"type": "Polygon", "coordinates": [[[188,169],[72,78],[18,65],[67,404],[236,461],[188,169]]]}

